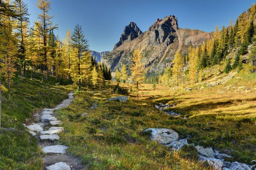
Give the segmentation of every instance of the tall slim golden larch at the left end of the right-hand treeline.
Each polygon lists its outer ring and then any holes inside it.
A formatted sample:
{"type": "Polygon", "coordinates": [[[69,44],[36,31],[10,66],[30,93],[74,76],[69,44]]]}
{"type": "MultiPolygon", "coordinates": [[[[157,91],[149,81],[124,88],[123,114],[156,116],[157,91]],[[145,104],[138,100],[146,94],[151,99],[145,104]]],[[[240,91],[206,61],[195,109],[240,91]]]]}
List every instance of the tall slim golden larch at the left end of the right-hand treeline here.
{"type": "Polygon", "coordinates": [[[189,47],[189,79],[192,84],[192,89],[194,89],[195,79],[197,76],[197,62],[195,49],[189,47]]]}

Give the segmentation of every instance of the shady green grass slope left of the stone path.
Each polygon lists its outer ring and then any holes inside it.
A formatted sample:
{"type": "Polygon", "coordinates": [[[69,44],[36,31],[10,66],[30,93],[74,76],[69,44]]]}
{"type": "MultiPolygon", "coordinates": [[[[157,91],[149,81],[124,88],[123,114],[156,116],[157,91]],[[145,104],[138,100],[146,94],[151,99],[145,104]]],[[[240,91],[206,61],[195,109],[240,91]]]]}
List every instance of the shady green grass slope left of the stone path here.
{"type": "Polygon", "coordinates": [[[32,113],[41,108],[52,108],[67,98],[68,87],[51,85],[56,82],[51,77],[49,81],[42,82],[40,74],[33,75],[32,79],[15,78],[11,90],[3,94],[1,170],[44,169],[36,139],[23,127],[23,123],[32,121],[32,113]]]}

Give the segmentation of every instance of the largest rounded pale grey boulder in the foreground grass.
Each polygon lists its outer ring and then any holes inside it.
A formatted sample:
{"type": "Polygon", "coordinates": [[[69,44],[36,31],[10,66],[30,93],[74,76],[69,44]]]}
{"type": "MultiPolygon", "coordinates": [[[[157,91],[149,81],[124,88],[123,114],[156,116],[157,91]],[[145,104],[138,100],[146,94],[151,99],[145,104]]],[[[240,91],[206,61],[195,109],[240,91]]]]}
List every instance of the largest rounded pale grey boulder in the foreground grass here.
{"type": "Polygon", "coordinates": [[[172,129],[149,128],[143,132],[150,132],[150,139],[160,144],[171,144],[179,139],[179,135],[172,129]]]}

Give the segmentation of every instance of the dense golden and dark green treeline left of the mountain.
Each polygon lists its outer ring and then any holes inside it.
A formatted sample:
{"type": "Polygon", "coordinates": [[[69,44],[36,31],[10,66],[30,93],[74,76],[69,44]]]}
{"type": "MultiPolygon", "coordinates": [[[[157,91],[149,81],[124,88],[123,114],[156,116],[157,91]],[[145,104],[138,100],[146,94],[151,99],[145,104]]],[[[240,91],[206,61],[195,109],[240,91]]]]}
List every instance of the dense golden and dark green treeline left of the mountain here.
{"type": "Polygon", "coordinates": [[[75,83],[79,90],[82,85],[95,84],[94,67],[99,76],[97,82],[111,79],[110,69],[90,56],[79,24],[60,40],[53,32],[58,25],[49,15],[50,2],[38,0],[37,7],[41,14],[29,28],[29,11],[23,0],[0,1],[0,74],[8,88],[15,74],[26,77],[28,70],[41,72],[45,80],[51,75],[75,83]]]}

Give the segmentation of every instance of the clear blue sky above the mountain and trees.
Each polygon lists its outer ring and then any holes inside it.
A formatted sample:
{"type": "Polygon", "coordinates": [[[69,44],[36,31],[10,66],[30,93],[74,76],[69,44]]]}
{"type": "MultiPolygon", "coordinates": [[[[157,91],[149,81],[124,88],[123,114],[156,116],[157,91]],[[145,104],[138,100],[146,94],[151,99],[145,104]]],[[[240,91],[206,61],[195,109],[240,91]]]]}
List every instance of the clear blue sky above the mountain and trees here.
{"type": "MultiPolygon", "coordinates": [[[[74,26],[82,26],[90,50],[112,51],[125,26],[135,22],[141,31],[157,20],[175,15],[180,28],[199,29],[206,32],[218,25],[227,27],[230,20],[246,11],[254,0],[50,0],[50,15],[58,24],[55,35],[60,39],[74,26]]],[[[41,11],[37,0],[24,0],[28,4],[31,26],[41,11]]]]}

